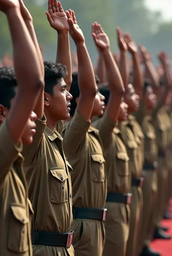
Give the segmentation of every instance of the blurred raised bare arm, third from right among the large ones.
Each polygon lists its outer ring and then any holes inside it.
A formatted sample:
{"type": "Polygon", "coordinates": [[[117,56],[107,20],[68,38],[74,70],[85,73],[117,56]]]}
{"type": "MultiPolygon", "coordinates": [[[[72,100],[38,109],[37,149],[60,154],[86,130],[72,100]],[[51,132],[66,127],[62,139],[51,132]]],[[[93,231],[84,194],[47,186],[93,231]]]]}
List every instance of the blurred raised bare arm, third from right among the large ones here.
{"type": "Polygon", "coordinates": [[[132,41],[132,38],[130,34],[124,34],[124,40],[127,44],[128,51],[130,52],[132,56],[132,62],[133,62],[133,86],[135,88],[136,94],[139,95],[140,99],[143,97],[143,74],[142,70],[140,68],[140,58],[137,46],[134,41],[132,41]]]}

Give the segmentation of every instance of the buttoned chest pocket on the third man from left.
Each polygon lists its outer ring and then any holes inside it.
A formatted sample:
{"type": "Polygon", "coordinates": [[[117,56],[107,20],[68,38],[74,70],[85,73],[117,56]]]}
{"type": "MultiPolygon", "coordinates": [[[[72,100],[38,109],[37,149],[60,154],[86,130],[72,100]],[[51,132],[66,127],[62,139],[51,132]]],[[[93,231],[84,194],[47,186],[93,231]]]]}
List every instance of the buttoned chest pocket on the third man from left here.
{"type": "Polygon", "coordinates": [[[105,158],[101,154],[91,155],[92,180],[94,182],[105,181],[105,158]]]}

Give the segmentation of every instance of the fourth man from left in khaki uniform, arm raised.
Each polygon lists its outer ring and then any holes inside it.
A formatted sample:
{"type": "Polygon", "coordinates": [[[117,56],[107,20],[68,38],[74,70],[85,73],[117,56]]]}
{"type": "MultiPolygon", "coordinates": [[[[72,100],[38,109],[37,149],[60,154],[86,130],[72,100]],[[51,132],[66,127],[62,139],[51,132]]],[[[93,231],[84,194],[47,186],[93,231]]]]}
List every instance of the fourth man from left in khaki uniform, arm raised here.
{"type": "MultiPolygon", "coordinates": [[[[96,26],[95,29],[99,31],[99,26],[98,28],[96,26]]],[[[100,33],[97,32],[97,38],[99,38],[100,33]]],[[[119,29],[117,29],[117,33],[119,44],[123,47],[124,40],[119,29]]],[[[106,34],[103,36],[101,33],[103,41],[105,41],[104,37],[106,38],[106,34]]],[[[117,120],[120,123],[127,118],[128,106],[123,101],[122,78],[111,53],[109,53],[111,58],[107,61],[107,50],[101,49],[97,41],[95,41],[95,44],[100,48],[100,54],[103,53],[108,80],[108,85],[100,86],[100,92],[105,96],[105,113],[103,117],[93,123],[99,130],[102,139],[107,170],[106,241],[103,255],[108,256],[115,252],[118,256],[124,256],[130,223],[128,203],[131,201],[131,194],[128,194],[128,192],[130,192],[131,175],[126,147],[120,130],[115,126],[117,120]]],[[[126,54],[126,51],[124,54],[126,54]]]]}

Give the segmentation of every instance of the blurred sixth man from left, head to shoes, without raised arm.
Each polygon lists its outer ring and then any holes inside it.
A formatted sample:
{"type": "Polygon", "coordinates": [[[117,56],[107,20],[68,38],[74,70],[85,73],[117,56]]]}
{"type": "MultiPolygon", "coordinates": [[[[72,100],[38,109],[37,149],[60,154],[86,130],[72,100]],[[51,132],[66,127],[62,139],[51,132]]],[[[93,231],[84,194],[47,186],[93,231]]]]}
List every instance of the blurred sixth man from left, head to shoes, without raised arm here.
{"type": "Polygon", "coordinates": [[[143,215],[140,229],[139,249],[142,256],[159,256],[153,252],[149,245],[154,228],[154,214],[157,196],[157,143],[155,129],[151,123],[150,110],[156,106],[156,95],[148,82],[144,83],[143,100],[140,103],[136,117],[144,133],[144,183],[143,191],[143,215]]]}

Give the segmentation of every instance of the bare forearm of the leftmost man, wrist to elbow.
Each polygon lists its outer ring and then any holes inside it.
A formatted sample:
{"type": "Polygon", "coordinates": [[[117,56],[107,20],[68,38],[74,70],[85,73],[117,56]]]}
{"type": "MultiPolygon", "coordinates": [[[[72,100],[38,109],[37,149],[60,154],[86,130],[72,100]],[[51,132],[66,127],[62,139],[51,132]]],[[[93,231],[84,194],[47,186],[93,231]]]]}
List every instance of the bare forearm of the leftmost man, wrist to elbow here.
{"type": "Polygon", "coordinates": [[[9,9],[7,18],[13,43],[13,59],[18,85],[24,85],[24,81],[30,81],[31,89],[40,81],[43,82],[36,48],[22,19],[20,9],[9,9]]]}

